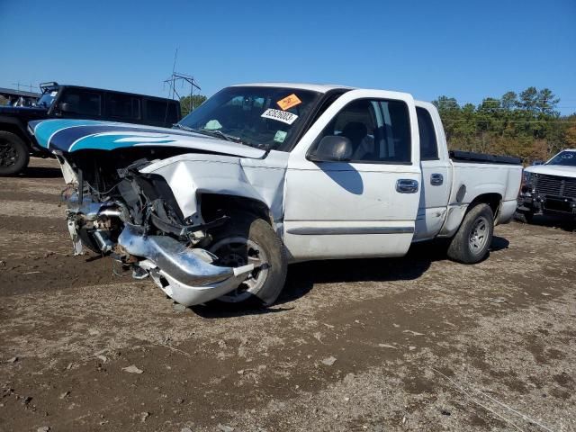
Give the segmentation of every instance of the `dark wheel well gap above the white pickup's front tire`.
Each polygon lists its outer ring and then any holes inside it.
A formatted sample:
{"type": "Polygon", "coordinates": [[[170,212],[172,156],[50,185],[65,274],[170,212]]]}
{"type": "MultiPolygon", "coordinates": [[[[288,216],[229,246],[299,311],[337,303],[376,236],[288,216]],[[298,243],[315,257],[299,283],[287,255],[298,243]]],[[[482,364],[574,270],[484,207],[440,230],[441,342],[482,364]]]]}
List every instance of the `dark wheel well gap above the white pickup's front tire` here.
{"type": "Polygon", "coordinates": [[[213,220],[218,211],[229,214],[231,211],[247,211],[266,220],[272,225],[272,215],[264,202],[245,196],[223,195],[219,193],[202,193],[198,197],[202,219],[213,220]]]}

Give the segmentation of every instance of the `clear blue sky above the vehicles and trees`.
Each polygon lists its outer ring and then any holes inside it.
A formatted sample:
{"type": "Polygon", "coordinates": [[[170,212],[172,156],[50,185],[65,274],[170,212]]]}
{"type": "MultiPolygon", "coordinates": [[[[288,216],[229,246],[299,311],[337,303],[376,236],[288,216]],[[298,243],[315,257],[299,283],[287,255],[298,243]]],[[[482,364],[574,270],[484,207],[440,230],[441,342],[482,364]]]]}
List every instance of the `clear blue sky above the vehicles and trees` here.
{"type": "Polygon", "coordinates": [[[576,112],[576,0],[0,0],[0,86],[166,95],[175,49],[208,95],[296,81],[479,103],[536,85],[576,112]]]}

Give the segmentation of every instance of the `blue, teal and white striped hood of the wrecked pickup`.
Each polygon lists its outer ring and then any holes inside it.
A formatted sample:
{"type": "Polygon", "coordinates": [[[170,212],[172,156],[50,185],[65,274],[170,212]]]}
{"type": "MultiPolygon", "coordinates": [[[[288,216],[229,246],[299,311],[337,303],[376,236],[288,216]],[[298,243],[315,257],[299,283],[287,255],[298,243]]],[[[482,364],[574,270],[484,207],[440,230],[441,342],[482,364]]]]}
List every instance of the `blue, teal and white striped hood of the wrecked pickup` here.
{"type": "Polygon", "coordinates": [[[90,120],[30,121],[41,147],[72,153],[78,150],[114,150],[129,147],[190,148],[238,157],[260,158],[265,150],[211,138],[185,130],[140,124],[90,120]]]}

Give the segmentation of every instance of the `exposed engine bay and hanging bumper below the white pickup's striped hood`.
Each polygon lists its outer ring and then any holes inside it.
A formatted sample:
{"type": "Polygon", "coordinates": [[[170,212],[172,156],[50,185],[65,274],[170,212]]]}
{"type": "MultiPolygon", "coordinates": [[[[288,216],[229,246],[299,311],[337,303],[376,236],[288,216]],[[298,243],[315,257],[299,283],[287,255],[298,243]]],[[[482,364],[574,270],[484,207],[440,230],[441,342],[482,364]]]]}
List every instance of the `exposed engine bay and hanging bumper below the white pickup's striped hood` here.
{"type": "Polygon", "coordinates": [[[88,247],[110,255],[122,271],[130,269],[137,279],[149,275],[176,302],[192,305],[236,288],[254,266],[221,266],[219,257],[203,248],[211,243],[211,229],[229,220],[224,211],[214,209],[206,222],[198,214],[184,218],[165,178],[139,171],[151,160],[183,152],[85,150],[58,160],[72,175],[62,198],[75,254],[88,247]]]}

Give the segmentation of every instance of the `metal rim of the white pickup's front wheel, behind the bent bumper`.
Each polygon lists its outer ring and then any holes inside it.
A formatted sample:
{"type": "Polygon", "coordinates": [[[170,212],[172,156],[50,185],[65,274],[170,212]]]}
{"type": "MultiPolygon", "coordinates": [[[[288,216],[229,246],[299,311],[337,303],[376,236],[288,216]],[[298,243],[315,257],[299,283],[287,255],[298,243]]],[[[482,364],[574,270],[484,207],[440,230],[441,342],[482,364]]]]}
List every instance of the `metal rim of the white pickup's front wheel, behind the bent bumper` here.
{"type": "Polygon", "coordinates": [[[222,238],[216,241],[210,252],[218,257],[216,266],[239,267],[254,265],[254,270],[238,287],[219,297],[221,302],[243,302],[257,293],[266,282],[268,275],[268,256],[266,251],[255,241],[243,237],[222,238]]]}

